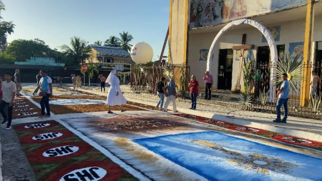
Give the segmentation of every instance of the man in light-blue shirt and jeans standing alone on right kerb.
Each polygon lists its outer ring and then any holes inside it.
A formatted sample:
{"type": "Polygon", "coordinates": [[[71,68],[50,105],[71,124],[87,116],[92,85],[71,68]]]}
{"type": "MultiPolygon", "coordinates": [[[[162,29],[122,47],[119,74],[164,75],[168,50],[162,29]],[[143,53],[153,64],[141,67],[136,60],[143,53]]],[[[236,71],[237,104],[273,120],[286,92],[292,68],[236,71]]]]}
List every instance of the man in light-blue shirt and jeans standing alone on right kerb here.
{"type": "Polygon", "coordinates": [[[277,104],[276,104],[276,113],[277,118],[273,122],[282,122],[286,123],[287,119],[287,101],[289,100],[289,81],[287,80],[287,74],[282,74],[283,83],[282,85],[277,89],[277,104]],[[284,117],[281,120],[281,106],[283,105],[284,108],[284,117]]]}

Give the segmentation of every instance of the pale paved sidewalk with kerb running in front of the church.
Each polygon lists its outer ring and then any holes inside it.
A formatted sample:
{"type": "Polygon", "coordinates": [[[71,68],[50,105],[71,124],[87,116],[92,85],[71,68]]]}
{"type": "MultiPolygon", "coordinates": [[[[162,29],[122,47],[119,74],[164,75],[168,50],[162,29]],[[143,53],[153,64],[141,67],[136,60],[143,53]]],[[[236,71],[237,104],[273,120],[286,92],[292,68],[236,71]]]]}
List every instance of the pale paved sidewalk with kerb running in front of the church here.
{"type": "MultiPolygon", "coordinates": [[[[155,106],[158,102],[158,98],[156,96],[152,94],[139,93],[137,91],[134,93],[134,91],[130,90],[130,86],[121,86],[121,89],[128,101],[152,106],[155,106]]],[[[79,90],[97,95],[107,95],[107,93],[101,93],[100,89],[96,87],[85,89],[80,88],[79,90]]],[[[182,113],[203,116],[257,129],[274,131],[309,140],[322,140],[322,121],[319,120],[289,116],[288,123],[275,123],[272,121],[276,118],[275,114],[243,111],[238,108],[236,103],[230,101],[197,100],[197,110],[192,111],[189,109],[191,107],[189,100],[177,99],[176,106],[177,110],[182,113]]],[[[171,104],[169,105],[169,109],[172,109],[171,104]]]]}

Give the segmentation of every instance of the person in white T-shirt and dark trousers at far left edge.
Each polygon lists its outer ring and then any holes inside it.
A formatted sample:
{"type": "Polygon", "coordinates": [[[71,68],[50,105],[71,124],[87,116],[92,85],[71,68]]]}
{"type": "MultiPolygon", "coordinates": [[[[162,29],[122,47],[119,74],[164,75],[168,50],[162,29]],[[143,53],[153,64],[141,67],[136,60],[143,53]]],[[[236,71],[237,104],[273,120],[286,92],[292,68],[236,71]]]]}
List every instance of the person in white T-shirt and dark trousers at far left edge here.
{"type": "Polygon", "coordinates": [[[11,121],[12,121],[12,111],[14,108],[14,98],[16,96],[17,88],[16,84],[11,81],[12,74],[10,72],[5,73],[5,81],[2,82],[2,101],[0,103],[0,113],[2,117],[4,118],[3,122],[1,124],[5,124],[7,121],[7,130],[11,129],[11,121]],[[8,117],[5,113],[5,107],[8,106],[8,117]]]}

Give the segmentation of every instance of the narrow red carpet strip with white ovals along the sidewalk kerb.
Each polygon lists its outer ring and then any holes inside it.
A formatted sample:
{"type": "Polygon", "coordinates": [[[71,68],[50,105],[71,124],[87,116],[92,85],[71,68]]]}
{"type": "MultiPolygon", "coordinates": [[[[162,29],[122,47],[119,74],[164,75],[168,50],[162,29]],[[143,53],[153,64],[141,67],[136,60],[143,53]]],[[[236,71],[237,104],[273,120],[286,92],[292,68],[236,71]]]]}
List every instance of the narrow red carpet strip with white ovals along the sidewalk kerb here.
{"type": "Polygon", "coordinates": [[[230,122],[209,119],[209,118],[195,116],[195,115],[191,115],[191,114],[184,114],[183,113],[183,114],[174,114],[174,115],[179,116],[179,117],[183,117],[186,119],[198,121],[198,122],[212,124],[212,125],[219,126],[222,128],[233,130],[233,131],[245,132],[245,133],[250,133],[250,134],[270,138],[273,140],[278,140],[278,141],[292,144],[292,145],[298,145],[298,146],[303,146],[303,147],[307,147],[307,148],[311,148],[311,149],[322,150],[322,142],[307,140],[307,139],[284,135],[284,134],[280,134],[280,133],[276,133],[276,132],[272,132],[272,131],[251,128],[251,127],[247,127],[247,126],[239,126],[236,124],[232,124],[230,122]]]}

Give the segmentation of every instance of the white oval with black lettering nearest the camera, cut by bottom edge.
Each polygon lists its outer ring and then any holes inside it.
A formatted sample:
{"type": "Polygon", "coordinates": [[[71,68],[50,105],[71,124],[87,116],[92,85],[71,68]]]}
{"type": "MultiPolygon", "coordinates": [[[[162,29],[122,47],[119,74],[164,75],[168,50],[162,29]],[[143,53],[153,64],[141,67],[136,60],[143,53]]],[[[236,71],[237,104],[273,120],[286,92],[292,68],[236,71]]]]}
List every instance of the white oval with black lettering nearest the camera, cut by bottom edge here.
{"type": "Polygon", "coordinates": [[[88,169],[88,171],[84,169],[81,172],[76,172],[75,174],[78,178],[71,178],[75,176],[74,173],[65,175],[63,178],[65,179],[65,181],[88,181],[88,179],[94,180],[95,178],[99,178],[99,175],[97,175],[97,173],[94,170],[99,170],[99,168],[91,167],[90,169],[88,169]]]}

